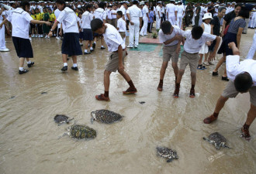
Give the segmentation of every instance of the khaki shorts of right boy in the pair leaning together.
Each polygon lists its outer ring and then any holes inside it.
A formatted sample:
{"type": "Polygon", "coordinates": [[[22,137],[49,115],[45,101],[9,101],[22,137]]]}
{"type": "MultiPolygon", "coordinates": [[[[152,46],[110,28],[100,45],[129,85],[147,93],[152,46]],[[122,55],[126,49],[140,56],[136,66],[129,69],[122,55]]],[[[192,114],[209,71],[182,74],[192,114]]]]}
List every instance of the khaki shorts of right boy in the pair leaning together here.
{"type": "Polygon", "coordinates": [[[182,52],[181,63],[179,70],[185,70],[185,67],[189,64],[190,71],[196,73],[196,68],[199,63],[199,53],[187,53],[182,52]]]}

